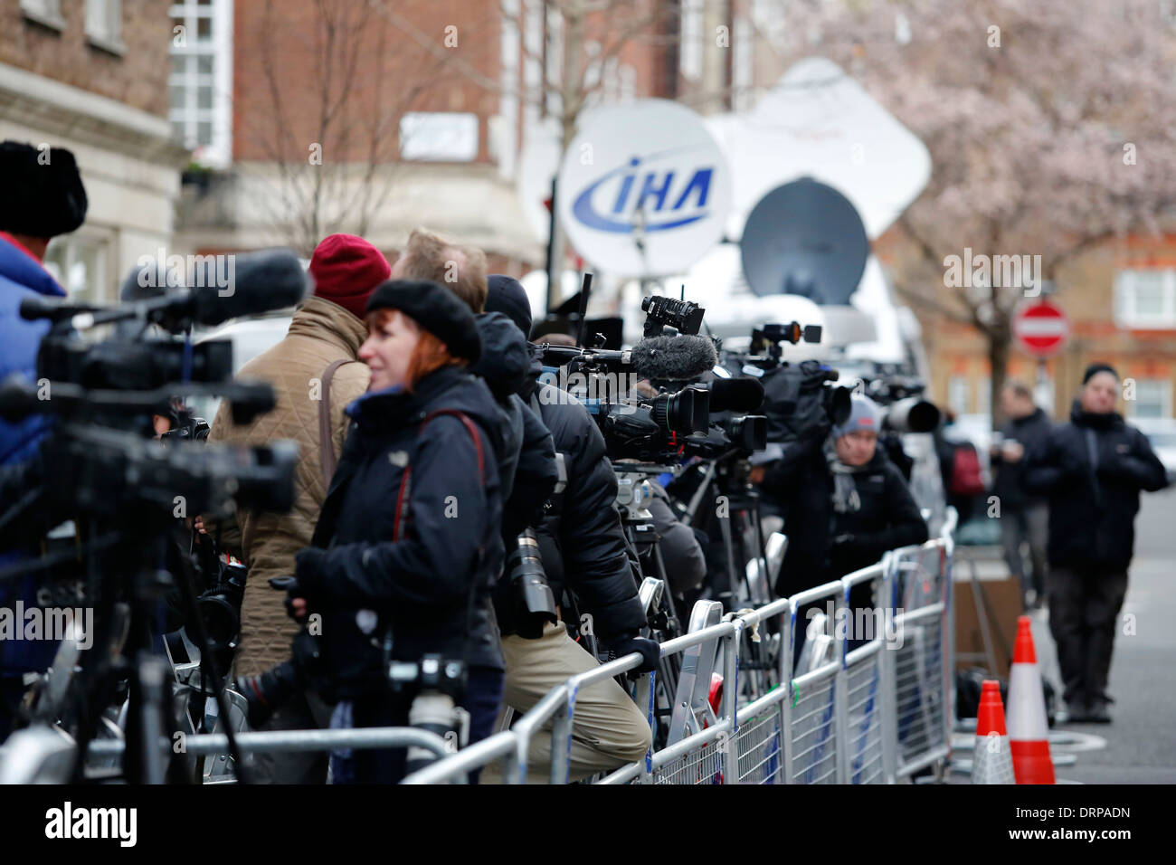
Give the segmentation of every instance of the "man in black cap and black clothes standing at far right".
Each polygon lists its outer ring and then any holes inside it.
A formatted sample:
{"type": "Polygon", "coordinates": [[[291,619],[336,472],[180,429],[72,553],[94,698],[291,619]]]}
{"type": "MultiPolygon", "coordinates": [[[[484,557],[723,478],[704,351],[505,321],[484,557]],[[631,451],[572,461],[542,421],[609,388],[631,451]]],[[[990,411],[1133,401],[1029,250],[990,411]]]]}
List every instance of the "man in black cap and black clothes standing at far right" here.
{"type": "Polygon", "coordinates": [[[1025,487],[1049,498],[1049,630],[1070,720],[1107,724],[1107,678],[1140,491],[1162,490],[1167,477],[1148,439],[1115,412],[1115,370],[1091,364],[1082,382],[1070,422],[1030,452],[1025,487]]]}

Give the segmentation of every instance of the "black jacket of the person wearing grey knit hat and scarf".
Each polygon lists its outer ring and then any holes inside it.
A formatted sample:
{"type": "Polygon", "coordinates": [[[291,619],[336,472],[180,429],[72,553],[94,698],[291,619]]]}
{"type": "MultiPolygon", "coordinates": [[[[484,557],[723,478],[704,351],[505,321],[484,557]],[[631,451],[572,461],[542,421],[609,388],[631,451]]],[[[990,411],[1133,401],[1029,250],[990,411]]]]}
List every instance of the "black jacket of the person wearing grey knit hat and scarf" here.
{"type": "Polygon", "coordinates": [[[882,553],[927,540],[927,523],[902,472],[880,447],[851,477],[861,508],[836,513],[834,480],[821,443],[764,473],[763,488],[782,506],[788,552],[776,579],[787,597],[868,567],[882,553]],[[850,535],[850,537],[846,537],[850,535]],[[842,538],[841,543],[835,539],[842,538]]]}

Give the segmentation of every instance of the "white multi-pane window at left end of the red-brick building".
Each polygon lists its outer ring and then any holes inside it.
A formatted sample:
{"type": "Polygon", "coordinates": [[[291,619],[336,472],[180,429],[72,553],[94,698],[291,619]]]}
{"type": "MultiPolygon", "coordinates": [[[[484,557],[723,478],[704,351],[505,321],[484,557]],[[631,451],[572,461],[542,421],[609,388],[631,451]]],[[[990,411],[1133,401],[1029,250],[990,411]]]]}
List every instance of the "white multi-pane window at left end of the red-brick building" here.
{"type": "Polygon", "coordinates": [[[176,140],[198,162],[226,167],[232,159],[233,2],[173,4],[168,117],[176,140]]]}

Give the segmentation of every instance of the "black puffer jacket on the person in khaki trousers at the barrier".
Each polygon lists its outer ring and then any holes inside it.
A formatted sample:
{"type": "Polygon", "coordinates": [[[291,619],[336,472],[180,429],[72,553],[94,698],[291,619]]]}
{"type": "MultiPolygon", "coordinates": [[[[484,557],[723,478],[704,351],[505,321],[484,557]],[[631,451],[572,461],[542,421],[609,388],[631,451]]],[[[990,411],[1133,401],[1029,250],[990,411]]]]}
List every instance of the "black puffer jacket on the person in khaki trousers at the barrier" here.
{"type": "Polygon", "coordinates": [[[608,640],[635,634],[646,617],[614,505],[616,474],[604,437],[583,404],[566,391],[530,380],[521,395],[539,406],[568,475],[563,492],[552,497],[539,532],[543,570],[556,601],[566,586],[575,593],[580,612],[593,617],[597,636],[608,640]]]}

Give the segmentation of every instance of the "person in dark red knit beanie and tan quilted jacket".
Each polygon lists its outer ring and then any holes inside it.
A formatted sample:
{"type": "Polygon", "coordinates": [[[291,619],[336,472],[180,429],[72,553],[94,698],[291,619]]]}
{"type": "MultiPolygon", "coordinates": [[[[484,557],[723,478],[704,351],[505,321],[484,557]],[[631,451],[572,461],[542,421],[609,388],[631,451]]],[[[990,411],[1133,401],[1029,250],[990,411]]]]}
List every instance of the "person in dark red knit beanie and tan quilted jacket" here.
{"type": "MultiPolygon", "coordinates": [[[[294,313],[289,333],[239,373],[273,385],[275,411],[235,426],[228,401],[222,401],[208,437],[245,445],[295,439],[301,445],[289,513],[238,511],[235,520],[206,520],[209,534],[220,533],[220,545],[236,552],[248,568],[235,672],[258,730],[309,730],[329,723],[329,710],[302,681],[300,664],[287,663],[299,628],[268,580],[292,573],[294,553],[310,544],[350,426],[345,410],[367,390],[370,377],[359,362],[367,338],[365,306],[390,267],[362,238],[332,234],[315,248],[309,271],[314,295],[294,313]]],[[[316,752],[259,753],[253,760],[259,783],[322,784],[327,778],[327,759],[316,752]]]]}

